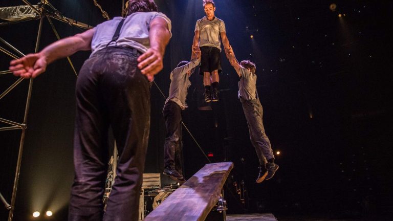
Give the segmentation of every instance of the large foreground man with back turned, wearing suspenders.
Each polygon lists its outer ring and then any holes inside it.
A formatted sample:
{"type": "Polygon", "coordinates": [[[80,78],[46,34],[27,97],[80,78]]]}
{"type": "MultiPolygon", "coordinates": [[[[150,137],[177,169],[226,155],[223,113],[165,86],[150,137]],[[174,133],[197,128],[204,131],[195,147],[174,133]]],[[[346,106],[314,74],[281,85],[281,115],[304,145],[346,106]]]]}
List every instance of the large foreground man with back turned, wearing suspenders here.
{"type": "Polygon", "coordinates": [[[169,18],[152,0],[130,0],[128,15],[58,40],[10,63],[15,76],[37,77],[56,59],[92,50],[76,83],[75,178],[69,220],[137,220],[150,127],[150,84],[163,69],[169,18]],[[21,69],[21,70],[20,70],[21,69]],[[108,127],[119,161],[103,215],[108,127]]]}

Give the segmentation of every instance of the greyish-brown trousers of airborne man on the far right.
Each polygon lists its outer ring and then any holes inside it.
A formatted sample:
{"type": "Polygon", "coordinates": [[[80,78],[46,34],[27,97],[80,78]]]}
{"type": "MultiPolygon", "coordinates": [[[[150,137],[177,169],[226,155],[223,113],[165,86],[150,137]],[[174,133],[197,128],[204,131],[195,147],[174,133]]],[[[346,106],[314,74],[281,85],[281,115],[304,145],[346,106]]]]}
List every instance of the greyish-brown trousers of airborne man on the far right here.
{"type": "Polygon", "coordinates": [[[262,120],[264,109],[259,99],[245,100],[240,98],[240,101],[247,119],[251,144],[255,148],[259,164],[265,165],[267,160],[274,159],[274,154],[262,120]]]}

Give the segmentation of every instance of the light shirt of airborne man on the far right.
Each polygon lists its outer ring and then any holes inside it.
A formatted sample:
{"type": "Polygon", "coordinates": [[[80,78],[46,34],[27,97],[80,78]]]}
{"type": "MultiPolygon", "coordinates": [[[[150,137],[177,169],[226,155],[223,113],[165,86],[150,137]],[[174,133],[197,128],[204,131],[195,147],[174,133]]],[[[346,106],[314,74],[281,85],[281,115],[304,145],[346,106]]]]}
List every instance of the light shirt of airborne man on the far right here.
{"type": "Polygon", "coordinates": [[[241,67],[240,73],[242,77],[240,78],[239,93],[238,98],[242,97],[245,100],[257,99],[258,92],[256,91],[256,74],[252,74],[249,70],[241,67]]]}

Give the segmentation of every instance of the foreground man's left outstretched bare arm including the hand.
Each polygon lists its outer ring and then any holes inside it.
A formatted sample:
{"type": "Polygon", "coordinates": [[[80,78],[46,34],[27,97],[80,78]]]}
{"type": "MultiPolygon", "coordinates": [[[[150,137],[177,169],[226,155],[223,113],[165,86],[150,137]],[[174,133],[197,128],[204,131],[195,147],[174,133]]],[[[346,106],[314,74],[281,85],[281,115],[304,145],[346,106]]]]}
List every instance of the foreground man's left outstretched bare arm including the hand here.
{"type": "Polygon", "coordinates": [[[95,29],[90,29],[81,34],[55,41],[38,53],[12,60],[9,69],[14,72],[15,76],[35,78],[45,72],[48,64],[53,61],[70,56],[77,51],[91,50],[94,33],[95,29]]]}

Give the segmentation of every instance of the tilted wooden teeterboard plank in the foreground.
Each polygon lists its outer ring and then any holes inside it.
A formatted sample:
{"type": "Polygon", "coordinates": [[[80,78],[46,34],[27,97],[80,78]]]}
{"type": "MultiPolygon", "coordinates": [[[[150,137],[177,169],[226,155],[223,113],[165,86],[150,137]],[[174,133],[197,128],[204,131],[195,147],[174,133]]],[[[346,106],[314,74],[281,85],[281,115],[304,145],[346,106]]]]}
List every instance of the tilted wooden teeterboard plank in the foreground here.
{"type": "Polygon", "coordinates": [[[232,162],[206,164],[170,194],[144,220],[205,220],[207,214],[219,200],[221,190],[232,168],[232,162]]]}

